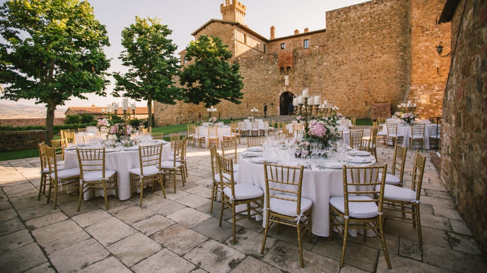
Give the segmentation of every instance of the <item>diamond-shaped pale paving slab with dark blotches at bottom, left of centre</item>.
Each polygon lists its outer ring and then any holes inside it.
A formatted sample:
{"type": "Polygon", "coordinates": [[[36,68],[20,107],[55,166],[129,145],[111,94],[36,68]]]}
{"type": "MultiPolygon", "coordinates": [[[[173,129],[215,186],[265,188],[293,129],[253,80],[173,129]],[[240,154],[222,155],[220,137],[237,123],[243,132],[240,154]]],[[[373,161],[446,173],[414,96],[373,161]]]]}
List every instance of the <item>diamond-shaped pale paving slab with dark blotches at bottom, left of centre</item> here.
{"type": "Polygon", "coordinates": [[[211,273],[227,273],[244,260],[244,253],[215,240],[208,240],[184,256],[211,273]]]}

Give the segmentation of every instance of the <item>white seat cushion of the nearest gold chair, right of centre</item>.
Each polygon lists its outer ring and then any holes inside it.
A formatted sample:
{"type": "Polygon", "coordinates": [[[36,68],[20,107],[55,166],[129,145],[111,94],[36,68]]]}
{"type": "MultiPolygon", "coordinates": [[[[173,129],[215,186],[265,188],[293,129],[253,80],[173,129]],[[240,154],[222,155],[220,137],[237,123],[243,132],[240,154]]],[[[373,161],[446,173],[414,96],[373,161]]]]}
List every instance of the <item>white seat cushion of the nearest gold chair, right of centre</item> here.
{"type": "MultiPolygon", "coordinates": [[[[374,202],[350,202],[350,200],[372,200],[367,196],[349,196],[348,210],[353,218],[373,218],[377,216],[378,207],[374,202]]],[[[345,213],[345,198],[332,197],[330,205],[334,206],[341,213],[345,213]]]]}

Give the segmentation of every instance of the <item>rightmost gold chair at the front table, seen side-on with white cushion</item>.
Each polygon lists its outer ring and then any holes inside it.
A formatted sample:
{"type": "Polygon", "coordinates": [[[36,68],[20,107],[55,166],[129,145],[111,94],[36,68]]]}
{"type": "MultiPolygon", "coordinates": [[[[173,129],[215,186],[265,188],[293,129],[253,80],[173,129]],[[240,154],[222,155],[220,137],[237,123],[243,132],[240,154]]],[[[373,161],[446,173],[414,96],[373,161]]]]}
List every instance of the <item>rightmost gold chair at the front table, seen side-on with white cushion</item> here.
{"type": "Polygon", "coordinates": [[[402,213],[402,217],[395,214],[385,214],[384,217],[412,221],[412,227],[414,228],[416,228],[417,224],[419,245],[423,245],[419,198],[421,197],[421,185],[423,183],[425,164],[426,157],[416,151],[414,165],[412,167],[411,189],[388,184],[384,187],[384,204],[386,204],[384,210],[402,213]],[[411,214],[412,218],[406,218],[406,213],[411,214]]]}

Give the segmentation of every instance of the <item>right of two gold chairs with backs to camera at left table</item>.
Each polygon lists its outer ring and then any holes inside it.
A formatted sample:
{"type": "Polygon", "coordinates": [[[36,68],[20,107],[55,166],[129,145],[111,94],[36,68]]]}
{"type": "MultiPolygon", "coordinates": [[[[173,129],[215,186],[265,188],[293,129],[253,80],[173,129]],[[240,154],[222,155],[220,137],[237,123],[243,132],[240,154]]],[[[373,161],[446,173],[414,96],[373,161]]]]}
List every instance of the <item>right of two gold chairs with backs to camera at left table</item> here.
{"type": "Polygon", "coordinates": [[[133,188],[140,189],[140,206],[142,206],[144,188],[148,183],[154,192],[155,183],[159,182],[162,194],[166,198],[162,181],[164,172],[161,171],[162,146],[162,144],[139,146],[139,167],[130,170],[131,197],[133,196],[133,188]]]}

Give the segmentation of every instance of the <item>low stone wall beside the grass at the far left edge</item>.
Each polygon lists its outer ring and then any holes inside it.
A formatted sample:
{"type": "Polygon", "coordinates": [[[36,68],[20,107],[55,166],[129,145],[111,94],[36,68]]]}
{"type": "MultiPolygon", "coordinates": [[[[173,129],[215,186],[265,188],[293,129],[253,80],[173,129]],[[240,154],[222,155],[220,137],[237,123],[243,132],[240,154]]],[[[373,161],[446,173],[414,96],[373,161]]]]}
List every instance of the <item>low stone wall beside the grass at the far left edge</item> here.
{"type": "Polygon", "coordinates": [[[37,149],[44,135],[44,130],[0,132],[0,152],[37,149]]]}

